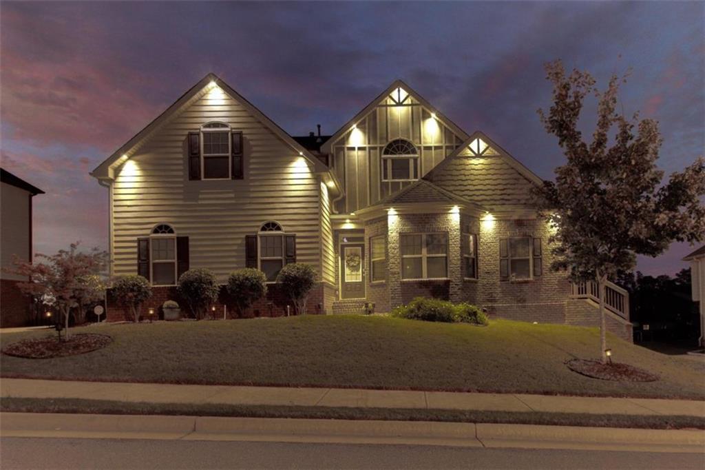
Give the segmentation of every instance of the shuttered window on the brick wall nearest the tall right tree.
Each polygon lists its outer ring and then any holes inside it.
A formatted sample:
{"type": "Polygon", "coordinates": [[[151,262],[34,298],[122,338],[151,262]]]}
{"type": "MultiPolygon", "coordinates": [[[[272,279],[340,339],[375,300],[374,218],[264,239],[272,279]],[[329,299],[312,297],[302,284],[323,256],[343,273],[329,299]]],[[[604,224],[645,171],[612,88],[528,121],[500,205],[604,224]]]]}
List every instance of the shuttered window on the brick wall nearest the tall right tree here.
{"type": "Polygon", "coordinates": [[[541,275],[541,239],[516,236],[499,241],[501,279],[532,279],[541,275]]]}

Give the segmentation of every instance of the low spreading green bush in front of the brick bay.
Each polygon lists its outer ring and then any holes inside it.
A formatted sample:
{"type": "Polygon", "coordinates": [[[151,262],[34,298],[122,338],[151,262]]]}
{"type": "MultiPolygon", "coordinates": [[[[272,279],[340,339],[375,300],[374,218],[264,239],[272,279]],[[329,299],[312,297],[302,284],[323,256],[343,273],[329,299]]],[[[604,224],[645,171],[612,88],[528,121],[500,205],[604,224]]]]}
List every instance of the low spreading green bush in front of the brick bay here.
{"type": "Polygon", "coordinates": [[[454,305],[449,301],[425,297],[417,297],[405,306],[394,308],[391,315],[397,318],[425,322],[487,325],[487,316],[474,305],[469,303],[454,305]]]}

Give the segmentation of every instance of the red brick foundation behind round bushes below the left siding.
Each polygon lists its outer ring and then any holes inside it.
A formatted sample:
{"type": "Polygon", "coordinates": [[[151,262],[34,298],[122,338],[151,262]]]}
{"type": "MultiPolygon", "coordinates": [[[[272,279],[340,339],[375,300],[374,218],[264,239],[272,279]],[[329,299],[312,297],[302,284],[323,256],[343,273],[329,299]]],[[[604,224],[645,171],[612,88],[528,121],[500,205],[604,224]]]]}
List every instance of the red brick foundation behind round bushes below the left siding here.
{"type": "MultiPolygon", "coordinates": [[[[323,283],[319,283],[316,287],[314,287],[311,294],[309,294],[309,299],[306,304],[306,313],[326,313],[324,308],[324,289],[326,289],[326,287],[323,283]]],[[[330,287],[328,287],[328,289],[330,289],[330,287]]],[[[176,287],[152,287],[152,297],[142,305],[142,319],[148,318],[147,312],[149,312],[149,308],[154,308],[155,320],[163,319],[164,312],[161,311],[161,305],[168,300],[176,301],[179,304],[182,318],[191,316],[188,309],[188,304],[180,298],[176,291],[176,287]]],[[[214,316],[216,318],[223,318],[223,313],[227,312],[228,318],[239,318],[235,313],[234,308],[232,308],[232,305],[233,303],[230,301],[225,287],[221,287],[219,299],[214,304],[214,307],[216,308],[214,316]],[[224,306],[227,306],[226,310],[223,309],[224,306]]],[[[288,299],[288,296],[283,293],[281,287],[276,284],[272,284],[267,288],[266,297],[264,299],[259,299],[252,307],[248,308],[242,315],[242,318],[286,316],[286,306],[290,306],[290,314],[294,315],[293,303],[288,299]]],[[[108,295],[108,311],[106,318],[111,322],[122,320],[132,321],[128,309],[119,306],[116,303],[116,299],[110,294],[110,292],[108,295]]]]}

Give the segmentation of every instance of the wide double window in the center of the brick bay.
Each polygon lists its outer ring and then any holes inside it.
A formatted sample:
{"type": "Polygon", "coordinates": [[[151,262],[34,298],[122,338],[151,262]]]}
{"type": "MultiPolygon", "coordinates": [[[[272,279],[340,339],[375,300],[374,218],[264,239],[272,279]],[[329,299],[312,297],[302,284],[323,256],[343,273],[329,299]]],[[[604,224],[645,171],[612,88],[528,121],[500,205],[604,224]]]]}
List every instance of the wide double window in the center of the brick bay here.
{"type": "Polygon", "coordinates": [[[447,234],[402,234],[402,279],[445,279],[448,277],[447,234]]]}

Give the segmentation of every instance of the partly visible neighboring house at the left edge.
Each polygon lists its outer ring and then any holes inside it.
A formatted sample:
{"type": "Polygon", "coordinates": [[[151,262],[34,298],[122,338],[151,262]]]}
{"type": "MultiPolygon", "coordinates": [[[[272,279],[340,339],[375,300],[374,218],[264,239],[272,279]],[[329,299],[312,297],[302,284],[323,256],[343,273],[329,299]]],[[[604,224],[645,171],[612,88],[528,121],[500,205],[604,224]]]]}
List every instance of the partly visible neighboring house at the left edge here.
{"type": "Polygon", "coordinates": [[[12,269],[15,255],[31,261],[32,198],[44,194],[39,188],[0,169],[0,327],[18,327],[30,323],[30,299],[20,292],[18,282],[27,282],[12,269]]]}

